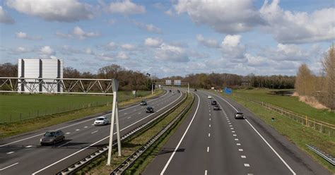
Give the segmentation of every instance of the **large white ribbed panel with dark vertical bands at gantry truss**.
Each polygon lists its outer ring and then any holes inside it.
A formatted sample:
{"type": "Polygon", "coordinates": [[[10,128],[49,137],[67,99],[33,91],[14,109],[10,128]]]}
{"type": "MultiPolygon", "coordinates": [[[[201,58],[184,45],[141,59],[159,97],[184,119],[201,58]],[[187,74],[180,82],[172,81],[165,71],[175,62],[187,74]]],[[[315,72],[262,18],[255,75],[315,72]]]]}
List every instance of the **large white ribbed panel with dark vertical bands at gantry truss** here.
{"type": "MultiPolygon", "coordinates": [[[[18,78],[63,78],[63,60],[61,59],[18,59],[18,78]]],[[[18,81],[19,92],[62,92],[57,80],[26,79],[18,81]]]]}

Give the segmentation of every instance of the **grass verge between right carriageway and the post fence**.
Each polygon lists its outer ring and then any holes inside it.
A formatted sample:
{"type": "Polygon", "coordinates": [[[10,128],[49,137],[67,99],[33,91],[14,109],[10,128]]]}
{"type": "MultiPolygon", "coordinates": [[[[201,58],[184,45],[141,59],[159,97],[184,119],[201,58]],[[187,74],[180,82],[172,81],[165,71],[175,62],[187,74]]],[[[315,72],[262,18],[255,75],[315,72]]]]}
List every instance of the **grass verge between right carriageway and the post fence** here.
{"type": "MultiPolygon", "coordinates": [[[[222,95],[222,94],[221,94],[222,95]]],[[[222,95],[227,97],[228,95],[222,95]]],[[[328,135],[319,133],[312,128],[303,126],[302,124],[293,121],[292,119],[282,116],[275,111],[270,111],[264,107],[259,106],[259,104],[254,104],[253,102],[247,102],[244,99],[230,96],[235,102],[242,104],[247,107],[254,114],[263,119],[266,123],[276,129],[281,135],[286,136],[290,142],[298,145],[300,149],[307,152],[308,155],[312,156],[317,162],[322,164],[324,167],[329,169],[333,174],[335,174],[335,167],[324,160],[319,155],[312,152],[305,144],[315,145],[319,147],[324,152],[330,155],[335,155],[335,138],[331,138],[328,135]],[[274,117],[275,121],[271,121],[274,117]]]]}

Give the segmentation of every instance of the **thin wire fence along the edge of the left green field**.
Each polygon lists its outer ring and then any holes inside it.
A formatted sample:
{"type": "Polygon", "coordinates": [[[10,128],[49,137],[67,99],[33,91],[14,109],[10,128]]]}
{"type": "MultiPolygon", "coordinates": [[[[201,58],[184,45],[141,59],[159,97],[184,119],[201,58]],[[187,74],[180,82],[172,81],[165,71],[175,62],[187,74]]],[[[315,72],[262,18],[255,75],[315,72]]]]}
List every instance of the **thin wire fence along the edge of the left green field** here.
{"type": "Polygon", "coordinates": [[[33,109],[25,113],[8,114],[8,116],[1,116],[0,123],[11,123],[16,121],[23,121],[33,119],[40,116],[48,116],[53,114],[60,114],[69,111],[76,111],[86,109],[88,107],[100,107],[110,105],[112,102],[90,102],[88,104],[73,104],[67,107],[50,107],[48,109],[33,109]]]}

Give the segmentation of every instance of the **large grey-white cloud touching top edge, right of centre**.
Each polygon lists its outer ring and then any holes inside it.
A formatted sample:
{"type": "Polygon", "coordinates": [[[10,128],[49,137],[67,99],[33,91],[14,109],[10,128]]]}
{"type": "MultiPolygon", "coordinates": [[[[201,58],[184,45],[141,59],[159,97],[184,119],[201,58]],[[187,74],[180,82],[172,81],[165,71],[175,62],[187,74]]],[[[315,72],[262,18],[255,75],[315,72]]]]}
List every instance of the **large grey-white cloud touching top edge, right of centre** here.
{"type": "Polygon", "coordinates": [[[252,0],[192,1],[175,4],[177,13],[187,13],[196,24],[208,25],[217,32],[247,32],[264,23],[252,0]]]}

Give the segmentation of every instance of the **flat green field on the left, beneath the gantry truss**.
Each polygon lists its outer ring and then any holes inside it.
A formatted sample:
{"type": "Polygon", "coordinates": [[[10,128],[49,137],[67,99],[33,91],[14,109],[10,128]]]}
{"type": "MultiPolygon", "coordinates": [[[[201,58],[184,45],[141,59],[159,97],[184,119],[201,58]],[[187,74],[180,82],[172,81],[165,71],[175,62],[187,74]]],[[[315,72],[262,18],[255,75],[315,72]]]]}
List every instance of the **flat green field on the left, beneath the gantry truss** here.
{"type": "MultiPolygon", "coordinates": [[[[149,91],[138,92],[138,96],[149,91]]],[[[134,98],[131,92],[119,92],[119,101],[134,98]]],[[[37,116],[96,107],[112,102],[112,96],[103,95],[0,95],[0,123],[33,119],[37,116]]]]}

